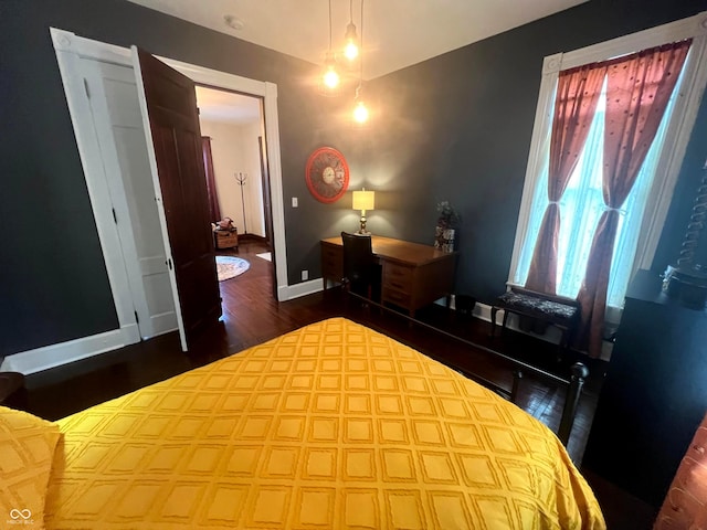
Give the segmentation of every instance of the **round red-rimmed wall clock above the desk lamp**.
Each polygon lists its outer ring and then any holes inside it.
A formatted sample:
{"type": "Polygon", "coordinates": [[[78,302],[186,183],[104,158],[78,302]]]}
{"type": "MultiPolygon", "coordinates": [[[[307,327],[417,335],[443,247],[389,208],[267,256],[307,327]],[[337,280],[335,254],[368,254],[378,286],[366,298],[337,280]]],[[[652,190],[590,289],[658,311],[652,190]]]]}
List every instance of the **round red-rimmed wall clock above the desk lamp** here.
{"type": "Polygon", "coordinates": [[[305,181],[317,201],[336,202],[349,187],[349,165],[333,147],[320,147],[307,159],[305,181]]]}

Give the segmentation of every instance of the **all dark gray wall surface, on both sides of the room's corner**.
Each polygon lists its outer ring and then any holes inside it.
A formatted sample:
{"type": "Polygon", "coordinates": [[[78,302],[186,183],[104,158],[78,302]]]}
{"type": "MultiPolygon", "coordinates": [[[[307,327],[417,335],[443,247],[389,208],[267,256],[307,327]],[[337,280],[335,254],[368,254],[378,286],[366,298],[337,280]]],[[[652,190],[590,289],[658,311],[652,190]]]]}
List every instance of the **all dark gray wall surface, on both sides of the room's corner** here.
{"type": "MultiPolygon", "coordinates": [[[[339,99],[317,96],[309,63],[124,0],[0,0],[0,353],[117,324],[50,26],[277,84],[291,284],[305,268],[319,276],[321,237],[356,227],[350,193],[327,205],[306,189],[307,156],[327,145],[349,160],[351,189],[377,191],[374,233],[431,243],[435,204],[451,200],[463,215],[457,290],[488,301],[508,274],[542,57],[705,9],[707,0],[590,1],[372,81],[377,113],[356,130],[342,117],[352,87],[339,99]]],[[[704,160],[705,114],[667,223],[678,239],[704,160]]],[[[675,236],[664,239],[656,262],[667,263],[675,236]]]]}

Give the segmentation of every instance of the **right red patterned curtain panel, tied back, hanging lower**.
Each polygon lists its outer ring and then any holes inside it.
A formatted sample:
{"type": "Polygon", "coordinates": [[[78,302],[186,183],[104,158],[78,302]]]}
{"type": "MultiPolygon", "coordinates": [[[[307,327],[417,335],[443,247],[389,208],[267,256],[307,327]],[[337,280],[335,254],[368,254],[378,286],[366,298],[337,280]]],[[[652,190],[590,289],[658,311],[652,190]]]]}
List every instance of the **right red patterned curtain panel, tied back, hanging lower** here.
{"type": "Polygon", "coordinates": [[[609,63],[604,118],[603,198],[584,282],[579,293],[582,344],[601,353],[609,271],[619,209],[629,195],[661,125],[692,40],[666,44],[609,63]]]}

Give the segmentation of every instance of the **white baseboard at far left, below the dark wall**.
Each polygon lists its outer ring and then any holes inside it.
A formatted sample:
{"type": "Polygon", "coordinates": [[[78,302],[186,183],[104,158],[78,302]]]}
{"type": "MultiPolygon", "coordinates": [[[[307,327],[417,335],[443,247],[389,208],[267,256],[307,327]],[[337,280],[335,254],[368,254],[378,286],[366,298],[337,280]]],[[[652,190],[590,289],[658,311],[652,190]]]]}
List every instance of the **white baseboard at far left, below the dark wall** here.
{"type": "MultiPolygon", "coordinates": [[[[0,370],[21,372],[25,375],[50,368],[61,367],[88,357],[117,350],[130,343],[125,340],[131,331],[114,329],[104,333],[82,337],[57,344],[13,353],[4,359],[0,370]]],[[[139,339],[138,339],[139,340],[139,339]]]]}

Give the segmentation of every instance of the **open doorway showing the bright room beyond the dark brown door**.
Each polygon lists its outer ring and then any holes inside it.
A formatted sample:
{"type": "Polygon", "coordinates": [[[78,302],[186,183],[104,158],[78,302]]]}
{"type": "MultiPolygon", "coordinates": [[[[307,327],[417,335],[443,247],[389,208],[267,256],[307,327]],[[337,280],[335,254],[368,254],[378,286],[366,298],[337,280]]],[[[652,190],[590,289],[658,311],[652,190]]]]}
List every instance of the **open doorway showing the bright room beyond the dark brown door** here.
{"type": "Polygon", "coordinates": [[[238,296],[253,300],[276,299],[272,288],[272,212],[270,176],[264,142],[263,102],[260,97],[197,86],[197,104],[212,209],[212,222],[225,218],[238,229],[238,247],[217,247],[217,255],[249,262],[245,276],[219,284],[222,318],[238,318],[238,296]],[[250,284],[239,288],[233,284],[250,284]]]}

